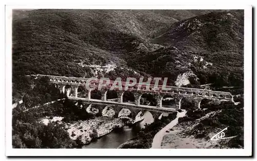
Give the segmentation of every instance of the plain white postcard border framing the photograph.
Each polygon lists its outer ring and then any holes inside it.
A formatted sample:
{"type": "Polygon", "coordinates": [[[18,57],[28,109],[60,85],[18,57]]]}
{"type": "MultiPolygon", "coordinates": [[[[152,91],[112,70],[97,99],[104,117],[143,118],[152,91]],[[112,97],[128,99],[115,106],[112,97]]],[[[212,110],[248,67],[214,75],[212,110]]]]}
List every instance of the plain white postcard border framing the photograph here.
{"type": "Polygon", "coordinates": [[[7,156],[249,156],[252,152],[252,6],[6,6],[5,119],[7,156]],[[13,149],[12,9],[244,9],[244,149],[13,149]]]}

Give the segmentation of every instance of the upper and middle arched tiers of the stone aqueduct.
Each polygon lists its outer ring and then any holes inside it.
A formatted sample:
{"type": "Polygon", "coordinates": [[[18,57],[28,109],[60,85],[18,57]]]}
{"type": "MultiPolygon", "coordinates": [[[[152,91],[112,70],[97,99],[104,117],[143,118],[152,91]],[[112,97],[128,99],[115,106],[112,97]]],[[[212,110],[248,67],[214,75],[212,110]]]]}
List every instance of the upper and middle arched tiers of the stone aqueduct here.
{"type": "MultiPolygon", "coordinates": [[[[77,100],[84,100],[92,103],[96,103],[97,101],[99,103],[106,103],[109,104],[111,101],[107,101],[106,94],[109,88],[112,86],[112,81],[109,83],[109,85],[102,87],[100,90],[101,92],[101,100],[93,100],[91,99],[91,90],[85,89],[86,96],[85,98],[79,98],[78,97],[78,87],[79,86],[85,86],[86,81],[89,78],[76,78],[76,77],[60,77],[60,76],[49,76],[49,75],[36,75],[38,77],[47,77],[48,81],[50,83],[58,84],[58,87],[61,92],[65,93],[66,88],[65,86],[70,86],[71,92],[73,95],[69,95],[68,98],[70,99],[77,99],[77,100]]],[[[185,88],[185,87],[175,87],[175,86],[166,86],[166,88],[171,88],[171,90],[162,90],[162,85],[158,86],[158,89],[155,88],[155,90],[152,90],[154,88],[154,84],[150,85],[149,90],[146,89],[147,84],[140,84],[141,87],[138,88],[138,83],[134,86],[128,87],[127,90],[125,90],[125,84],[126,82],[122,82],[122,91],[119,89],[115,89],[117,95],[118,95],[118,102],[112,102],[113,104],[120,104],[124,106],[128,106],[128,103],[123,102],[123,94],[126,91],[130,91],[135,98],[135,103],[133,106],[140,107],[142,109],[144,108],[152,108],[154,110],[159,111],[174,111],[176,109],[181,108],[181,100],[183,98],[188,98],[195,104],[195,108],[200,108],[200,102],[203,99],[208,100],[216,100],[216,101],[233,101],[233,96],[230,93],[224,92],[224,91],[213,91],[213,90],[207,90],[207,89],[198,89],[198,88],[185,88]],[[157,107],[154,106],[145,106],[140,105],[140,98],[143,94],[151,94],[154,96],[157,107]],[[176,108],[164,108],[162,107],[162,99],[164,96],[170,96],[174,99],[176,108]]],[[[99,79],[92,79],[90,81],[90,87],[98,87],[99,79]]]]}

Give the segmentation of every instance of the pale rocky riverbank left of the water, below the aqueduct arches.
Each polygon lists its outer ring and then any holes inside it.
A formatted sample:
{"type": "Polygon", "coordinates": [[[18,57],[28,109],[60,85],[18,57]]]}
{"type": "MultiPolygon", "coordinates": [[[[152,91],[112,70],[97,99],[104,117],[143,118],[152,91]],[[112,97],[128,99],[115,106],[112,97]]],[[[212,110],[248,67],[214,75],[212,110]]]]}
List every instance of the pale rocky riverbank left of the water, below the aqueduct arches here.
{"type": "MultiPolygon", "coordinates": [[[[78,103],[75,104],[76,106],[78,103]]],[[[94,108],[91,106],[86,109],[88,113],[96,114],[94,108]]],[[[45,125],[48,125],[50,122],[58,122],[59,124],[64,125],[64,130],[67,131],[71,140],[77,142],[79,146],[89,144],[92,140],[98,139],[99,137],[108,134],[109,132],[113,131],[115,128],[123,127],[124,125],[133,125],[137,122],[139,124],[143,124],[144,127],[145,123],[151,124],[153,122],[152,114],[149,111],[143,112],[140,111],[137,116],[132,119],[131,118],[131,111],[124,108],[122,109],[119,114],[118,118],[114,118],[115,111],[112,107],[105,108],[102,111],[101,117],[93,117],[88,120],[79,120],[66,123],[63,121],[63,117],[44,117],[40,119],[45,125]],[[149,116],[146,117],[145,116],[149,116]]]]}

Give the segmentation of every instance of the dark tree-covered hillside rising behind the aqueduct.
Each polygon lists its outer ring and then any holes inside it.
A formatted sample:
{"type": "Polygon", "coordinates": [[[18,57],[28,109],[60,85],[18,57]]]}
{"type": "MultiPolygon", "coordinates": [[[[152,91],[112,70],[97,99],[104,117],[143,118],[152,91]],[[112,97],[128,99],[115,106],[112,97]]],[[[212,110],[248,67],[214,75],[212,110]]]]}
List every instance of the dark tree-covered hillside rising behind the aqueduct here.
{"type": "Polygon", "coordinates": [[[191,84],[242,85],[243,16],[234,10],[14,10],[14,95],[26,93],[30,74],[158,76],[175,85],[191,72],[191,84]],[[101,73],[90,65],[113,68],[101,73]]]}

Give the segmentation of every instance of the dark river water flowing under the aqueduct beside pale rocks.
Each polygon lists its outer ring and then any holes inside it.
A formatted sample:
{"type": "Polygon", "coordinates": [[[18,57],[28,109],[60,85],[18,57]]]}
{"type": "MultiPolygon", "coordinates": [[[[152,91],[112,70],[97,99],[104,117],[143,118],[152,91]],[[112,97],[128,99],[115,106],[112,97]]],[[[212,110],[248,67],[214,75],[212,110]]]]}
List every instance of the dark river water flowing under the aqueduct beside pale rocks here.
{"type": "Polygon", "coordinates": [[[112,132],[103,135],[98,140],[84,145],[82,148],[117,148],[127,140],[132,139],[146,123],[151,124],[154,119],[149,111],[144,112],[144,120],[135,123],[132,127],[124,126],[114,129],[112,132]]]}

